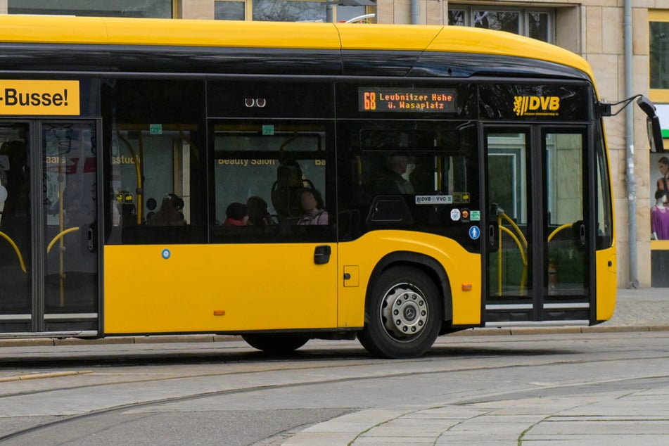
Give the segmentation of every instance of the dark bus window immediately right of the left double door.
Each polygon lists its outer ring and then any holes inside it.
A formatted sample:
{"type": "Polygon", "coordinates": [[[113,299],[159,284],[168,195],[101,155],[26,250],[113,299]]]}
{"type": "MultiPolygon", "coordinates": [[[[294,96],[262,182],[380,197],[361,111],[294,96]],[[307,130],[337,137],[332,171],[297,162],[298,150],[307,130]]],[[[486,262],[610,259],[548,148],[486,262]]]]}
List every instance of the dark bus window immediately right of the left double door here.
{"type": "Polygon", "coordinates": [[[201,243],[203,84],[120,79],[103,89],[108,129],[108,243],[201,243]],[[147,105],[148,104],[148,105],[147,105]]]}

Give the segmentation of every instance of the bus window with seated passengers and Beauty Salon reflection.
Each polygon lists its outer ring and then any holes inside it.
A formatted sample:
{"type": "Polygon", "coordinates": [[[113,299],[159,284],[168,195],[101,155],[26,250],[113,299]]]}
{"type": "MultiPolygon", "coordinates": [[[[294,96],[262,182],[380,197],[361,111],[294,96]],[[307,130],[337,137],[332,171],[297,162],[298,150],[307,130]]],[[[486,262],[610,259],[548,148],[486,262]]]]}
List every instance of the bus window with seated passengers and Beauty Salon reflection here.
{"type": "MultiPolygon", "coordinates": [[[[295,234],[294,227],[304,222],[329,224],[323,125],[248,122],[215,125],[214,133],[212,238],[224,237],[220,241],[226,243],[268,241],[268,236],[295,234]],[[305,189],[316,198],[317,218],[303,218],[305,189]],[[236,209],[246,206],[248,219],[243,224],[231,223],[232,203],[236,209]],[[255,228],[240,231],[229,226],[255,228]]],[[[310,229],[314,230],[319,231],[310,229]]]]}

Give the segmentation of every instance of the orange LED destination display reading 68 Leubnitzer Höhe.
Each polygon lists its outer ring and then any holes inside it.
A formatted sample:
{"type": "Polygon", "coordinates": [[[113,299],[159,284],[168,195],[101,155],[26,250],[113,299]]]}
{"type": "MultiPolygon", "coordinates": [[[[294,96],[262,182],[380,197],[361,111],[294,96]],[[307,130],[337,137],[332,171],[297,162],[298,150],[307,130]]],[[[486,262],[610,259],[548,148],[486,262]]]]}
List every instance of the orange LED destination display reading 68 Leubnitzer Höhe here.
{"type": "Polygon", "coordinates": [[[454,89],[376,87],[358,89],[358,110],[361,112],[453,113],[455,101],[454,89]]]}

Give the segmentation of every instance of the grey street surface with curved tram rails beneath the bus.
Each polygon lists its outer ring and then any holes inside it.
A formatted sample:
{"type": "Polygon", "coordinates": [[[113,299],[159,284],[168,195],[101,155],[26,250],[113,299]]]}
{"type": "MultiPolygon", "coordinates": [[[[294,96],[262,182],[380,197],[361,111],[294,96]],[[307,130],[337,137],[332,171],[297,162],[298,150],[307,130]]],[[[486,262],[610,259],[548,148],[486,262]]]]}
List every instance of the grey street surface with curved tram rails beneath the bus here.
{"type": "Polygon", "coordinates": [[[289,359],[241,342],[3,348],[0,440],[660,445],[668,338],[444,337],[412,360],[373,359],[355,341],[310,341],[289,359]]]}

